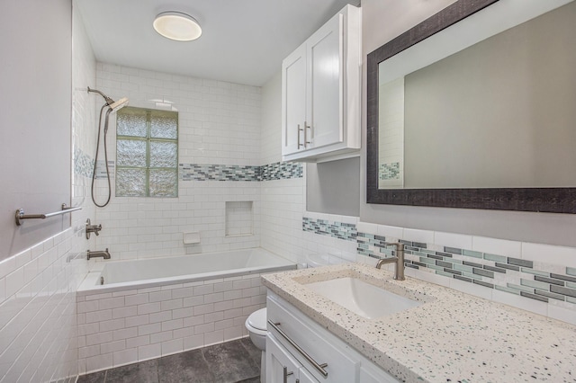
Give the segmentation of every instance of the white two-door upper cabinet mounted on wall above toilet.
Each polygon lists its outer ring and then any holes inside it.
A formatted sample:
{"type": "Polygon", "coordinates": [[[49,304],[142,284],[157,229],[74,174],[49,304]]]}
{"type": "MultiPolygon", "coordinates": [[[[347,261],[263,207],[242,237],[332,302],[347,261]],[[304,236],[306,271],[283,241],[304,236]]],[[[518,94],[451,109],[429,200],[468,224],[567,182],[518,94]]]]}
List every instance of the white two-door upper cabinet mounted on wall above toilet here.
{"type": "Polygon", "coordinates": [[[283,161],[358,151],[361,49],[361,10],[347,5],[284,58],[283,161]]]}

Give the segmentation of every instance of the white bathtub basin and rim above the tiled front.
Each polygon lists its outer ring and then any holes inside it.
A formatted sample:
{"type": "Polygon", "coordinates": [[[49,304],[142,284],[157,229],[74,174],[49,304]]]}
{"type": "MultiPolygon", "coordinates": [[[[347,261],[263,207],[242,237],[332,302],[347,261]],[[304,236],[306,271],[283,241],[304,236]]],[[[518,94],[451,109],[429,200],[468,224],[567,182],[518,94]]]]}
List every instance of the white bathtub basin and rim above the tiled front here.
{"type": "Polygon", "coordinates": [[[261,248],[129,261],[103,261],[89,272],[79,291],[138,289],[295,269],[296,264],[261,248]]]}

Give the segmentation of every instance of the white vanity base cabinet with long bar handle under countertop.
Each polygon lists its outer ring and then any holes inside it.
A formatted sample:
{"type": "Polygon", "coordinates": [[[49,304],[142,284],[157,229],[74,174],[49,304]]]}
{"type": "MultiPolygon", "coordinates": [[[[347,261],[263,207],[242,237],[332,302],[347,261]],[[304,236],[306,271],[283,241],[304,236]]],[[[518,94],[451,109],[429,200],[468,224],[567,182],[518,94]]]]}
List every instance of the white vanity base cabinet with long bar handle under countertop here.
{"type": "Polygon", "coordinates": [[[266,383],[398,382],[268,290],[266,383]]]}

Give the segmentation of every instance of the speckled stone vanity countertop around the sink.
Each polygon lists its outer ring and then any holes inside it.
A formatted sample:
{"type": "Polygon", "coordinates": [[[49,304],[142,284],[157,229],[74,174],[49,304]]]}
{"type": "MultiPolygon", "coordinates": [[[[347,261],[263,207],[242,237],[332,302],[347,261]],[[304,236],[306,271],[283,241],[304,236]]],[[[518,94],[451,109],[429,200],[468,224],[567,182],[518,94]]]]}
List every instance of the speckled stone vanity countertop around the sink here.
{"type": "Polygon", "coordinates": [[[267,274],[265,286],[407,382],[576,382],[576,326],[360,263],[267,274]],[[355,277],[423,301],[366,319],[306,283],[355,277]]]}

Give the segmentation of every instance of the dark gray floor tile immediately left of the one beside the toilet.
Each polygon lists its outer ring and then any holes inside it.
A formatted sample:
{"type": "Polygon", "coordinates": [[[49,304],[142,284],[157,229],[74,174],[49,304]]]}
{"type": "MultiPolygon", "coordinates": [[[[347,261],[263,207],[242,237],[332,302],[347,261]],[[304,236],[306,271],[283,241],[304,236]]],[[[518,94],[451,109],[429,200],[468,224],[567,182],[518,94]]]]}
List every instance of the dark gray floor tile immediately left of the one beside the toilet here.
{"type": "Polygon", "coordinates": [[[202,349],[181,352],[158,360],[160,383],[212,383],[216,382],[202,349]]]}

